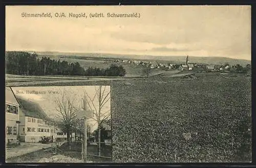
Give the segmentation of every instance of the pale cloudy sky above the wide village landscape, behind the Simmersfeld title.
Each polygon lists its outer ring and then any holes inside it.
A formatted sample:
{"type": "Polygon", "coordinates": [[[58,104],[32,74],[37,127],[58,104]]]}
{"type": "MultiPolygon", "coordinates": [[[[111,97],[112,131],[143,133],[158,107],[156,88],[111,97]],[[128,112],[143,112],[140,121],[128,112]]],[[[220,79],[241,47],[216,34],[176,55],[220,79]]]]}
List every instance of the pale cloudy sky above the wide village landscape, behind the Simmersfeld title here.
{"type": "Polygon", "coordinates": [[[251,59],[250,6],[8,6],[6,50],[251,59]],[[50,12],[52,18],[22,17],[50,12]],[[55,17],[55,13],[67,17],[55,17]],[[70,18],[69,13],[86,13],[70,18]],[[104,18],[89,18],[90,13],[104,18]],[[107,13],[139,13],[109,18],[107,13]]]}

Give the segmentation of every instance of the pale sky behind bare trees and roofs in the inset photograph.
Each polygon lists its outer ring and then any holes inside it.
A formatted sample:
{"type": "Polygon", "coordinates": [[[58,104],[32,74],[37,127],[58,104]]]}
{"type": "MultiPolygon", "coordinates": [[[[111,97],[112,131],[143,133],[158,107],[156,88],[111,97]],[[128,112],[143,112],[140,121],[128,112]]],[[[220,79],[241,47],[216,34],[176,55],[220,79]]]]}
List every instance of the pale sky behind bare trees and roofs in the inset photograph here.
{"type": "MultiPolygon", "coordinates": [[[[102,89],[101,89],[102,91],[104,87],[105,87],[104,95],[106,95],[106,93],[110,92],[110,86],[102,86],[102,89]]],[[[62,87],[59,87],[59,86],[44,86],[44,87],[37,86],[36,87],[35,86],[35,87],[12,87],[12,90],[17,97],[38,103],[39,106],[45,111],[45,113],[49,117],[58,119],[57,115],[59,115],[60,113],[56,110],[57,105],[56,103],[54,103],[54,100],[56,99],[61,100],[60,98],[65,93],[66,95],[68,95],[68,97],[71,100],[74,100],[74,105],[78,108],[78,110],[79,109],[82,110],[81,107],[82,107],[82,98],[84,96],[84,91],[86,91],[89,97],[93,99],[94,95],[96,94],[96,89],[98,88],[99,86],[62,86],[62,87]],[[27,93],[27,90],[30,91],[30,93],[27,93]],[[45,93],[42,93],[43,91],[45,91],[45,93]],[[49,91],[57,91],[57,93],[49,93],[49,91]]],[[[108,98],[110,97],[111,97],[111,94],[109,94],[108,98]]],[[[90,98],[87,98],[87,99],[92,107],[92,101],[90,101],[90,98]]],[[[99,108],[98,99],[95,98],[93,103],[96,109],[98,109],[99,108]]],[[[89,106],[88,106],[88,109],[90,110],[89,106]]],[[[109,101],[106,102],[106,104],[102,107],[101,114],[106,112],[104,115],[102,115],[102,117],[110,114],[111,113],[110,109],[111,109],[111,100],[109,99],[109,101]]],[[[93,118],[96,119],[96,116],[94,115],[93,118]]],[[[94,119],[89,118],[88,124],[92,126],[92,131],[97,129],[97,124],[94,119]]]]}

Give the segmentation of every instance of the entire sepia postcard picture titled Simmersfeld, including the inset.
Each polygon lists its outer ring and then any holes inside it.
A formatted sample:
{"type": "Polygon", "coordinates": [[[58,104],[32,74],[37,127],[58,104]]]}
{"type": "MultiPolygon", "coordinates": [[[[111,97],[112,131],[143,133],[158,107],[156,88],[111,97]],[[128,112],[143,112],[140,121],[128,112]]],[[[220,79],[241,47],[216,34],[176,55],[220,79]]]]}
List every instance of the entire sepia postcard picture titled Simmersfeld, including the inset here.
{"type": "Polygon", "coordinates": [[[252,161],[251,6],[6,6],[5,61],[9,162],[252,161]]]}

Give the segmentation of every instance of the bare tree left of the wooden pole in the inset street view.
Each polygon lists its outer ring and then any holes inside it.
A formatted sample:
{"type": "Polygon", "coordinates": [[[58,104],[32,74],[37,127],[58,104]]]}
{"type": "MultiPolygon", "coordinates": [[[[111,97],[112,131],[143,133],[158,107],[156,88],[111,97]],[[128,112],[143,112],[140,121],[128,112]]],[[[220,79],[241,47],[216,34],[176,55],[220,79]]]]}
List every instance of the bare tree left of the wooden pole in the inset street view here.
{"type": "Polygon", "coordinates": [[[67,133],[68,144],[70,144],[70,134],[74,131],[74,126],[77,122],[77,109],[74,105],[74,99],[64,92],[62,96],[60,98],[56,98],[54,102],[57,105],[56,110],[58,111],[57,125],[63,132],[67,133]]]}

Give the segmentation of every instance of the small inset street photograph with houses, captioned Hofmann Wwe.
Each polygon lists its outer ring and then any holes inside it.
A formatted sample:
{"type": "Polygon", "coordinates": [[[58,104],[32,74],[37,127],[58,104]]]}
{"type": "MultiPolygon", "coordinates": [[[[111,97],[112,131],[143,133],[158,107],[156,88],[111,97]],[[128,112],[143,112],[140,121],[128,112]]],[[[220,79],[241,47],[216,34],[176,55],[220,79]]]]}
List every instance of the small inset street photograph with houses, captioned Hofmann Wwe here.
{"type": "Polygon", "coordinates": [[[6,162],[112,161],[110,86],[6,87],[6,162]]]}

